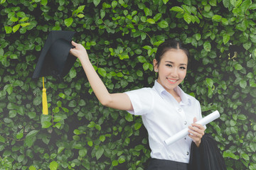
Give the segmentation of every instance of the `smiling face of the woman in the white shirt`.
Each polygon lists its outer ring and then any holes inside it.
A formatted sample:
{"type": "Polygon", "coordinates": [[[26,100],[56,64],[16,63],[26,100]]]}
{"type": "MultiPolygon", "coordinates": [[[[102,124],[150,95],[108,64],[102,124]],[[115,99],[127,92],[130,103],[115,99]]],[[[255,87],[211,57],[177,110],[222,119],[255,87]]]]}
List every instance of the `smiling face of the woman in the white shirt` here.
{"type": "Polygon", "coordinates": [[[157,81],[170,94],[186,77],[188,56],[183,50],[171,49],[164,52],[159,63],[154,60],[154,70],[159,73],[157,81]]]}

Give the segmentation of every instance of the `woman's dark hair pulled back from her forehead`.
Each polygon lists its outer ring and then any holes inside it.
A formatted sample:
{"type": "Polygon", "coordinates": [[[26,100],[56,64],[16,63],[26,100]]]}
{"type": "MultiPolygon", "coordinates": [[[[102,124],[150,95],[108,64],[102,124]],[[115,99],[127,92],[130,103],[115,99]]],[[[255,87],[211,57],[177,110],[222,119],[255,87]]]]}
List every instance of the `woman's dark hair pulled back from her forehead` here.
{"type": "Polygon", "coordinates": [[[183,47],[182,42],[178,40],[167,40],[161,43],[161,45],[159,45],[159,47],[157,48],[155,59],[158,66],[161,62],[161,58],[163,57],[164,53],[171,49],[183,50],[183,52],[185,52],[186,56],[188,57],[188,61],[189,61],[189,52],[185,47],[183,47]]]}

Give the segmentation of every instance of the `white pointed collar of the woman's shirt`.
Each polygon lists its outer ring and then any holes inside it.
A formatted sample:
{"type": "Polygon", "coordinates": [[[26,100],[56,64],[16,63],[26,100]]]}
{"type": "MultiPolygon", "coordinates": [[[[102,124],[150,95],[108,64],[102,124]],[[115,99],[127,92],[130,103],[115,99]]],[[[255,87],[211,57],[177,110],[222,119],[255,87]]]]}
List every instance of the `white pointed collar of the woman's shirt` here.
{"type": "MultiPolygon", "coordinates": [[[[161,86],[161,84],[159,84],[159,82],[157,82],[157,80],[155,80],[155,82],[154,82],[154,89],[156,89],[156,91],[160,95],[162,95],[162,93],[164,91],[166,91],[166,89],[164,89],[164,87],[161,86]]],[[[191,103],[188,96],[186,96],[185,92],[179,86],[176,86],[176,88],[174,90],[177,92],[178,96],[181,97],[181,103],[180,104],[189,105],[191,103]]],[[[166,91],[166,93],[169,93],[169,92],[166,91]]]]}

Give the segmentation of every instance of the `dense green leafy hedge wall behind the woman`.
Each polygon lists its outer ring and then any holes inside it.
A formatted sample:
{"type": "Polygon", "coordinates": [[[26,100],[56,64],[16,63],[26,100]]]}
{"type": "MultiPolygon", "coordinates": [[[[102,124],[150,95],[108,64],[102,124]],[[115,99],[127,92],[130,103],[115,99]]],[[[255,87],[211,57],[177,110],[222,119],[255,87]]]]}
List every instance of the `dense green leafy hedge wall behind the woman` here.
{"type": "Polygon", "coordinates": [[[1,0],[0,169],[145,169],[142,119],[102,106],[79,61],[64,79],[31,79],[50,30],[74,30],[110,92],[152,86],[164,40],[191,52],[181,87],[218,110],[207,128],[228,169],[256,169],[256,3],[251,0],[1,0]]]}

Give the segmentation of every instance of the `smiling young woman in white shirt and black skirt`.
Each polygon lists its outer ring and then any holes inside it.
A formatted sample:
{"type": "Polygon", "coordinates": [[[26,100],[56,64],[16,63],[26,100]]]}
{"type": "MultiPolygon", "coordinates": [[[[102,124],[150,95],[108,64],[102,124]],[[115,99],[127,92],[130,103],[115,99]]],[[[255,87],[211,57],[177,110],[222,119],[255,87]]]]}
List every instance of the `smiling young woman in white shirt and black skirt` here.
{"type": "Polygon", "coordinates": [[[110,94],[90,63],[85,48],[72,42],[72,55],[79,58],[87,79],[102,105],[142,115],[149,134],[151,162],[148,170],[188,169],[191,142],[199,147],[205,128],[196,124],[202,118],[200,103],[185,94],[178,84],[186,77],[188,50],[181,42],[170,40],[159,45],[153,61],[154,72],[158,73],[152,88],[142,88],[125,93],[110,94]],[[176,132],[189,128],[184,139],[172,145],[164,140],[176,132]]]}

